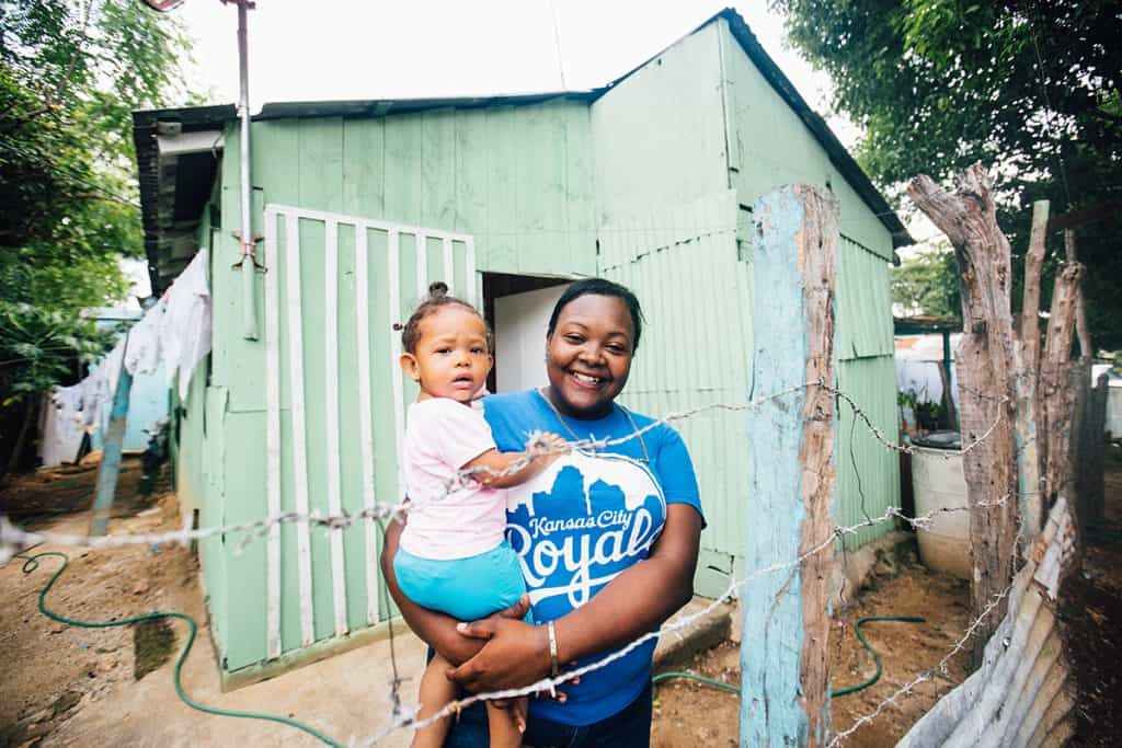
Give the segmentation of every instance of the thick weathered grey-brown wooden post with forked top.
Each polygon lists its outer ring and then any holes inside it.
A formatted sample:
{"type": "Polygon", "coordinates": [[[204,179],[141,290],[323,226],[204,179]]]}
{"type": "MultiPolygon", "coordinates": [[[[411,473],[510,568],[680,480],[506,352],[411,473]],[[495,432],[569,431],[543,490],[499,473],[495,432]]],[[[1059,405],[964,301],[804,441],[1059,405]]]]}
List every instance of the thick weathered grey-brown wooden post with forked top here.
{"type": "MultiPolygon", "coordinates": [[[[1017,548],[1017,471],[1013,440],[1013,321],[1010,247],[997,227],[993,183],[981,164],[968,168],[951,194],[930,177],[908,185],[916,205],[950,239],[960,273],[963,340],[956,360],[959,421],[971,509],[971,611],[981,617],[1013,576],[1017,548]]],[[[974,662],[1004,616],[1004,604],[982,621],[974,662]]]]}

